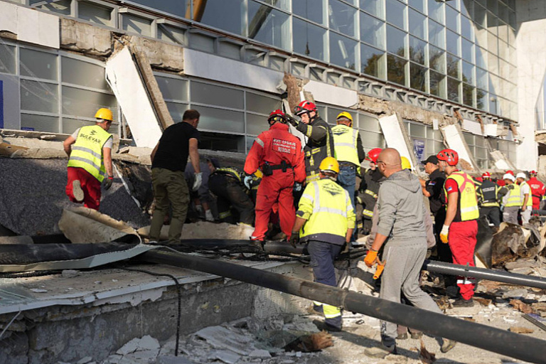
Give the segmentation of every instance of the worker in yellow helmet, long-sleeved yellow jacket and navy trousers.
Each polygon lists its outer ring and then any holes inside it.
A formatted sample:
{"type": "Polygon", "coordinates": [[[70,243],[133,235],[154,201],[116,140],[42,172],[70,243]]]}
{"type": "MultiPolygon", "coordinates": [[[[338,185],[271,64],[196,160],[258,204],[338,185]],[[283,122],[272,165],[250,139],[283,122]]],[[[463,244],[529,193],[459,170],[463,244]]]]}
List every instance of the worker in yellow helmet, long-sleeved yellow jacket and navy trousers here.
{"type": "MultiPolygon", "coordinates": [[[[333,260],[344,244],[350,242],[355,228],[355,213],[347,191],[336,183],[338,161],[326,157],[319,166],[319,181],[308,183],[299,200],[296,223],[290,243],[307,242],[315,282],[337,287],[333,260]]],[[[336,306],[314,302],[314,310],[324,314],[319,328],[341,331],[341,311],[336,306]]]]}

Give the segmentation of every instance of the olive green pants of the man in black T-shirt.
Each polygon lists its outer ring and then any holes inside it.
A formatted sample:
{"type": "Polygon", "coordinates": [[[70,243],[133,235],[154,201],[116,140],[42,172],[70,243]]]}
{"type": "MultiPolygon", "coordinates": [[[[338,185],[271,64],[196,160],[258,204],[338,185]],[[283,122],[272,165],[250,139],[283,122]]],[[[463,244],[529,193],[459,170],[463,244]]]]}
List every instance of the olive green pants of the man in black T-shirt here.
{"type": "Polygon", "coordinates": [[[159,240],[161,227],[165,215],[168,213],[169,204],[172,207],[171,226],[168,228],[168,242],[180,242],[180,235],[190,203],[188,183],[183,171],[170,171],[166,168],[153,168],[151,170],[151,185],[154,189],[156,208],[151,217],[150,240],[159,240]]]}

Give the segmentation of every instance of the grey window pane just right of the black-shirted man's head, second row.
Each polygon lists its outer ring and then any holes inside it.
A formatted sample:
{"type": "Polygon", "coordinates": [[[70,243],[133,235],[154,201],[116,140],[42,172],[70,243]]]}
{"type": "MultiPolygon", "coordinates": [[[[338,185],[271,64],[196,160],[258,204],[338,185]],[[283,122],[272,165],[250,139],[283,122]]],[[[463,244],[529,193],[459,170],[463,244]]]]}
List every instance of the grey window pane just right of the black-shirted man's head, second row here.
{"type": "MultiPolygon", "coordinates": [[[[213,109],[212,107],[198,107],[201,114],[199,129],[220,132],[245,132],[245,114],[226,109],[213,109]]],[[[266,124],[267,125],[267,124],[266,124]]],[[[262,131],[265,128],[262,128],[262,131]]]]}

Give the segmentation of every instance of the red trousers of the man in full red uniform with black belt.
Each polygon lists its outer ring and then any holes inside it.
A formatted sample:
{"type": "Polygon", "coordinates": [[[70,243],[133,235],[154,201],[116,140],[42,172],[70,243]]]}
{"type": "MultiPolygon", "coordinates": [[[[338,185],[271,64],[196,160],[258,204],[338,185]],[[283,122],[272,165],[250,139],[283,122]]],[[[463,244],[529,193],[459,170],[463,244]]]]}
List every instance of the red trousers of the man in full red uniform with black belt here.
{"type": "Polygon", "coordinates": [[[279,203],[279,222],[281,230],[288,237],[292,232],[296,220],[296,209],[294,208],[294,172],[289,169],[273,171],[272,176],[264,176],[259,183],[256,196],[256,220],[252,239],[264,240],[267,232],[267,224],[274,205],[279,203]]]}

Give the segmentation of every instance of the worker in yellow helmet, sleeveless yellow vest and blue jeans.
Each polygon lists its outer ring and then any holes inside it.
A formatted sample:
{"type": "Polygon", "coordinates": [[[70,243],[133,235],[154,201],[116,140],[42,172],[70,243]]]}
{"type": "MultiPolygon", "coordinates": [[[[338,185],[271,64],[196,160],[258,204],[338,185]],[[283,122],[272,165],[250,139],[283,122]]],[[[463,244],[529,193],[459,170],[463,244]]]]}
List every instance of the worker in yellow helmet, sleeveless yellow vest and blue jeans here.
{"type": "MultiPolygon", "coordinates": [[[[353,117],[348,112],[341,112],[336,122],[332,134],[336,160],[339,164],[338,184],[348,192],[354,208],[356,176],[357,173],[360,176],[360,163],[364,160],[366,152],[362,146],[360,133],[353,129],[353,117]]],[[[354,230],[353,240],[356,239],[357,231],[354,230]]]]}

